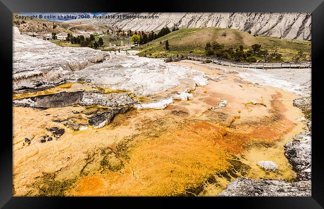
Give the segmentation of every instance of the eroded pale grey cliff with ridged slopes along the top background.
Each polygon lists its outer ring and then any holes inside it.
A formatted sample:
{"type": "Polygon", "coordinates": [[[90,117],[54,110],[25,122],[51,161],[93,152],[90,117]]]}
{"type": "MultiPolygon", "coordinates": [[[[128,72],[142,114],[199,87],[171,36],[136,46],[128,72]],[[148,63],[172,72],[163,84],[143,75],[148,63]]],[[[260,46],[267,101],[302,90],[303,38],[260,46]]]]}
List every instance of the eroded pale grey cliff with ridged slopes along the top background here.
{"type": "Polygon", "coordinates": [[[89,18],[75,19],[67,22],[92,23],[98,25],[117,26],[124,30],[158,31],[162,27],[196,28],[196,27],[221,27],[243,31],[251,30],[252,33],[290,39],[312,39],[311,13],[115,13],[115,15],[142,15],[159,16],[159,18],[89,18]]]}

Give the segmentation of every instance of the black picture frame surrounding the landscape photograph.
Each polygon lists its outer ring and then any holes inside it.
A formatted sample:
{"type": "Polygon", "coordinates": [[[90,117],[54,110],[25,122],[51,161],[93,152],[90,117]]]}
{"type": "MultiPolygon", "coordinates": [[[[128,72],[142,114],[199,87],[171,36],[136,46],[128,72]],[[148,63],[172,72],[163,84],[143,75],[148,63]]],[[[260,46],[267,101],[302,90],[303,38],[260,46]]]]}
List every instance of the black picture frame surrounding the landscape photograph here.
{"type": "MultiPolygon", "coordinates": [[[[312,197],[203,197],[203,198],[112,198],[112,197],[12,197],[12,12],[311,12],[312,13],[312,98],[315,112],[321,111],[321,66],[324,48],[324,2],[323,0],[165,0],[165,1],[104,1],[104,0],[0,0],[0,31],[1,31],[1,72],[2,76],[2,107],[6,115],[3,117],[2,129],[5,137],[0,143],[0,207],[3,208],[70,208],[69,204],[94,203],[131,204],[143,206],[171,206],[166,200],[182,200],[186,204],[205,204],[214,206],[225,204],[239,208],[301,208],[318,209],[324,207],[324,166],[322,163],[322,137],[320,137],[320,114],[313,114],[312,120],[312,197]],[[145,5],[145,7],[144,7],[145,5]],[[11,127],[11,128],[10,128],[11,127]],[[11,136],[10,136],[11,135],[11,136]],[[154,200],[150,203],[149,200],[154,200]]],[[[2,113],[3,114],[3,113],[2,113]]],[[[207,205],[205,206],[207,207],[207,205]]],[[[105,207],[106,208],[106,207],[105,207]]]]}

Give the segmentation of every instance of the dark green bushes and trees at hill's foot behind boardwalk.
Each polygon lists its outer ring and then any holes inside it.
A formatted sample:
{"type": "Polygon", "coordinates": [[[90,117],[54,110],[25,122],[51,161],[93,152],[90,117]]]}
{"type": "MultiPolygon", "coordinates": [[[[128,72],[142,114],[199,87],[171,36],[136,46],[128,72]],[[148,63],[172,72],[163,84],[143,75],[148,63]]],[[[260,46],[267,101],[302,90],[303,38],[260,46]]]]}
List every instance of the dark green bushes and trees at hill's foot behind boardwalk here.
{"type": "Polygon", "coordinates": [[[278,53],[278,50],[269,52],[267,49],[261,49],[260,44],[253,44],[247,51],[243,49],[242,45],[236,49],[224,49],[224,46],[217,42],[207,42],[205,53],[207,56],[216,56],[238,62],[256,62],[256,57],[262,58],[264,62],[282,61],[282,55],[278,53]]]}

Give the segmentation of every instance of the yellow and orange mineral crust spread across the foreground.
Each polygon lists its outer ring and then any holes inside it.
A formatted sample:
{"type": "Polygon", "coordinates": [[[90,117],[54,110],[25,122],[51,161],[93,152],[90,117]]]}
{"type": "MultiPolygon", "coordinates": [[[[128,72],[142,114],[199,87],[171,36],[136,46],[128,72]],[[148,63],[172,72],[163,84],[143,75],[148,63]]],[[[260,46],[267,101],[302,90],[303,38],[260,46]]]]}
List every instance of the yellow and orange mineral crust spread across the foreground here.
{"type": "Polygon", "coordinates": [[[87,107],[13,107],[13,195],[215,196],[241,176],[288,181],[296,176],[283,145],[306,127],[296,120],[303,116],[293,106],[297,95],[249,85],[235,73],[175,64],[222,77],[196,87],[192,100],[160,110],[131,109],[99,129],[65,127],[59,139],[46,143],[39,142],[48,134],[46,127],[64,128],[52,120],[82,120],[84,114],[72,111],[87,107]],[[227,105],[212,108],[221,101],[227,105]],[[251,101],[257,104],[247,104],[251,101]],[[28,146],[23,145],[25,137],[31,139],[28,146]],[[264,171],[256,165],[261,160],[276,162],[279,170],[264,171]]]}

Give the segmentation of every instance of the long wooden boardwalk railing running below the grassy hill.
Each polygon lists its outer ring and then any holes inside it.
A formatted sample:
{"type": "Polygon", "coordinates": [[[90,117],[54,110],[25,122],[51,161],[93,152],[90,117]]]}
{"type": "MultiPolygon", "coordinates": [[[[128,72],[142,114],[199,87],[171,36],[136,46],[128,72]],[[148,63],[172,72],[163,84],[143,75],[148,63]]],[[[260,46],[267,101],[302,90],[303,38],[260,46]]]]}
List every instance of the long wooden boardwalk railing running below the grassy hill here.
{"type": "Polygon", "coordinates": [[[217,57],[202,57],[202,56],[193,56],[188,55],[185,57],[169,57],[166,58],[165,62],[177,62],[183,59],[196,60],[206,62],[210,60],[211,63],[218,65],[231,66],[236,68],[255,68],[255,69],[282,69],[282,68],[312,68],[312,61],[303,61],[303,62],[235,62],[226,59],[218,59],[217,57]]]}

